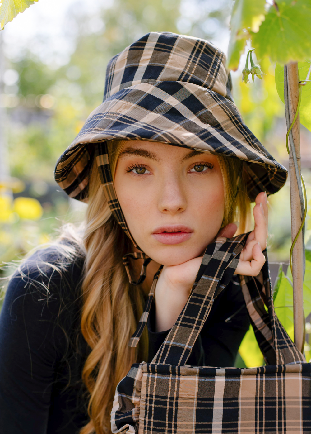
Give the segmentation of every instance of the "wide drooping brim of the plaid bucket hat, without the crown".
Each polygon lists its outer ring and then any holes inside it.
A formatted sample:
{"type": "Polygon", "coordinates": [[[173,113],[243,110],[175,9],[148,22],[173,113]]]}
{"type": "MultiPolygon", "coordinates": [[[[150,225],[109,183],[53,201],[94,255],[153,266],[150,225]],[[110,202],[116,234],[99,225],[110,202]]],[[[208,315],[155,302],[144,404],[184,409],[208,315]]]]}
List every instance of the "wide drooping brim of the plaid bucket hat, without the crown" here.
{"type": "Polygon", "coordinates": [[[55,180],[69,197],[87,201],[90,145],[107,140],[148,140],[240,158],[251,201],[261,191],[279,191],[287,178],[230,99],[190,82],[148,80],[104,100],[56,164],[55,180]]]}

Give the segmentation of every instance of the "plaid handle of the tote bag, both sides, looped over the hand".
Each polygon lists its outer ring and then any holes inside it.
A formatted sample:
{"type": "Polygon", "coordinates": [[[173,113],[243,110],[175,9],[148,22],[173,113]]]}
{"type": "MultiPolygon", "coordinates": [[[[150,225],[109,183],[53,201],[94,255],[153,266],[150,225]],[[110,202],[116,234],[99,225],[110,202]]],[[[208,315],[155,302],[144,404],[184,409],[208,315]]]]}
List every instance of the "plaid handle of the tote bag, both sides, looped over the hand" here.
{"type": "MultiPolygon", "coordinates": [[[[193,292],[152,363],[186,364],[213,300],[233,276],[247,236],[248,233],[230,240],[218,238],[216,243],[207,247],[193,292]]],[[[266,363],[305,363],[304,356],[275,315],[268,261],[258,276],[241,276],[240,279],[249,317],[266,363]]]]}

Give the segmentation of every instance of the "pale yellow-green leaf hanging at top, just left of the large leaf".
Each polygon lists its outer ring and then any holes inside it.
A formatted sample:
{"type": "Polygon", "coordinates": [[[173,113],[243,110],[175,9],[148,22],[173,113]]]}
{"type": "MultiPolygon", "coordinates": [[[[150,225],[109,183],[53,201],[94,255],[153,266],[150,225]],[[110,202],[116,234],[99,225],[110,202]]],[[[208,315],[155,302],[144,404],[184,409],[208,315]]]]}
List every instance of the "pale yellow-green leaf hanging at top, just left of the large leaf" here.
{"type": "Polygon", "coordinates": [[[236,0],[230,20],[231,37],[228,48],[228,65],[230,69],[237,69],[240,54],[243,53],[249,30],[258,32],[259,26],[265,19],[266,0],[236,0]]]}

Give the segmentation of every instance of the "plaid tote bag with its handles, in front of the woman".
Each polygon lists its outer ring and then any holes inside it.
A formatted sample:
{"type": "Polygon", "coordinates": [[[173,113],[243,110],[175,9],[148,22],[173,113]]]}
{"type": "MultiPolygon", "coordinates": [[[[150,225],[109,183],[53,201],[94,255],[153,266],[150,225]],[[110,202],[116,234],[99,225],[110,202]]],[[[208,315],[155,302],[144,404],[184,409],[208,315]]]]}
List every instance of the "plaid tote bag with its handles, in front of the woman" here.
{"type": "MultiPolygon", "coordinates": [[[[266,365],[186,365],[213,300],[232,279],[246,237],[218,238],[207,247],[191,296],[165,342],[151,363],[134,364],[117,386],[114,434],[311,433],[311,364],[275,315],[267,261],[258,276],[241,276],[266,365]]],[[[156,278],[131,346],[146,324],[156,278]]]]}

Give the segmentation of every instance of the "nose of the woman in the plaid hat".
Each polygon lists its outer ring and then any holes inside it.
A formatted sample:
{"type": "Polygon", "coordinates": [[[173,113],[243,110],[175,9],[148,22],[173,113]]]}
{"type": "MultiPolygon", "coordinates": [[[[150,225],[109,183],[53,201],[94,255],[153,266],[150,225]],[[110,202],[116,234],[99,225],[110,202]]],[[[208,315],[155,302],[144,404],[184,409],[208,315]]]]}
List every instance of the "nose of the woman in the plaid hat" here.
{"type": "Polygon", "coordinates": [[[158,208],[164,214],[180,214],[187,207],[186,191],[178,174],[168,173],[159,184],[158,208]]]}

